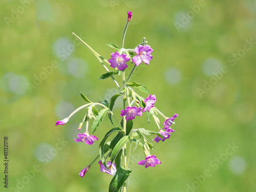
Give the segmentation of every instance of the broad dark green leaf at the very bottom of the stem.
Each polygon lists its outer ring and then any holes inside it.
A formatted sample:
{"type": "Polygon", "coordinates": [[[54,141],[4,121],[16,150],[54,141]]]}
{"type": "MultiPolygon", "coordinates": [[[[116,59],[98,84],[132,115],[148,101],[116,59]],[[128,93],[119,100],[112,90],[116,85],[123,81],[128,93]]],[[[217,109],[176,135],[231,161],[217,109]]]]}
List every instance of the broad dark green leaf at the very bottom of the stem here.
{"type": "Polygon", "coordinates": [[[132,170],[127,170],[123,167],[119,167],[110,182],[109,192],[118,192],[131,172],[132,170]]]}

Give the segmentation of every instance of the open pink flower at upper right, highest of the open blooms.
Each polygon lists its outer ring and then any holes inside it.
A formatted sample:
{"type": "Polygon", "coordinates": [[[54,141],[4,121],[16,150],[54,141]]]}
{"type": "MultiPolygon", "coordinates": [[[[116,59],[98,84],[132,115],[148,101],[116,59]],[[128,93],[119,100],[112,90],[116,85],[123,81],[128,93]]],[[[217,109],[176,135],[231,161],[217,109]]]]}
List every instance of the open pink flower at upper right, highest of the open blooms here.
{"type": "Polygon", "coordinates": [[[139,47],[135,48],[136,56],[133,57],[132,61],[135,63],[136,66],[139,66],[142,62],[141,59],[144,61],[146,65],[150,65],[150,60],[152,59],[151,53],[153,52],[153,49],[149,45],[139,45],[139,47]]]}

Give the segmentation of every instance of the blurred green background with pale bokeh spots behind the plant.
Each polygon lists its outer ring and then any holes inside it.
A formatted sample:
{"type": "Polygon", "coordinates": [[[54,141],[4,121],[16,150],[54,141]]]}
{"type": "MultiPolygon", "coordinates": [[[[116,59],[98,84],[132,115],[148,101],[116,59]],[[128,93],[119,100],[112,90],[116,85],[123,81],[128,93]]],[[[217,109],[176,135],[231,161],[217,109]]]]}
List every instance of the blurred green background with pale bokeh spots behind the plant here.
{"type": "MultiPolygon", "coordinates": [[[[79,92],[95,102],[117,92],[111,78],[98,80],[104,69],[72,32],[109,59],[115,50],[105,44],[120,46],[127,11],[125,48],[146,37],[154,49],[132,80],[166,116],[179,114],[170,139],[151,151],[160,165],[145,169],[137,165],[143,152],[133,152],[128,191],[256,191],[254,0],[1,1],[0,127],[9,147],[9,188],[1,182],[1,191],[108,191],[112,176],[97,162],[78,175],[113,127],[108,118],[90,146],[74,141],[85,111],[55,121],[84,104],[79,92]]],[[[139,127],[157,131],[145,116],[134,120],[139,127]]]]}

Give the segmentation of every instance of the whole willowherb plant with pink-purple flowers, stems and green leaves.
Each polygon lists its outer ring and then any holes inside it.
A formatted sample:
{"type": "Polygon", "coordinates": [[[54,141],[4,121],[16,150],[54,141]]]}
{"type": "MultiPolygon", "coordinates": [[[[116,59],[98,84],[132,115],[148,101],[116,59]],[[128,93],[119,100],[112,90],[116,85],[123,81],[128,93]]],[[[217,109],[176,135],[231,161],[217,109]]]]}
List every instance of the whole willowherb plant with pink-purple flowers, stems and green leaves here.
{"type": "Polygon", "coordinates": [[[78,138],[75,139],[75,141],[85,142],[86,144],[92,145],[95,141],[98,140],[98,138],[96,138],[96,136],[94,135],[89,134],[88,127],[90,120],[93,120],[92,134],[98,129],[106,114],[108,114],[108,117],[113,125],[116,121],[117,125],[109,130],[105,134],[104,138],[101,140],[99,144],[99,155],[89,165],[84,167],[79,173],[79,175],[83,177],[84,174],[88,172],[92,164],[98,158],[100,158],[98,162],[100,166],[100,171],[114,176],[109,186],[109,191],[111,192],[126,191],[128,186],[127,179],[132,172],[132,170],[129,169],[129,159],[131,152],[134,151],[137,146],[142,147],[145,154],[145,160],[139,161],[138,165],[145,165],[145,168],[147,168],[149,166],[155,167],[155,165],[161,164],[161,162],[159,161],[159,159],[156,158],[155,155],[151,155],[150,150],[152,150],[154,147],[152,142],[147,139],[147,136],[155,135],[156,137],[153,139],[153,141],[157,143],[160,140],[165,141],[165,139],[168,139],[170,137],[170,134],[174,132],[170,125],[174,123],[174,119],[178,116],[178,114],[175,114],[173,117],[167,118],[154,106],[154,104],[156,103],[156,96],[151,95],[143,84],[135,81],[130,81],[136,67],[139,66],[142,61],[146,65],[150,64],[150,61],[153,58],[153,56],[151,55],[153,49],[149,45],[147,45],[147,41],[145,41],[145,38],[143,38],[142,42],[134,49],[124,48],[125,33],[129,22],[132,19],[132,12],[128,11],[127,14],[127,23],[124,27],[121,39],[121,48],[113,43],[107,44],[108,46],[118,50],[117,52],[111,54],[111,58],[109,60],[103,58],[88,44],[86,44],[86,42],[84,42],[75,33],[73,33],[73,35],[75,35],[75,37],[80,40],[81,43],[96,56],[101,65],[105,68],[106,73],[101,75],[99,79],[106,79],[111,77],[116,84],[119,93],[113,95],[109,101],[105,100],[103,102],[92,102],[84,94],[80,93],[81,97],[88,103],[77,108],[73,113],[70,114],[69,117],[61,121],[56,121],[55,124],[65,124],[75,113],[77,113],[81,109],[87,109],[87,112],[78,127],[78,131],[80,131],[83,124],[86,123],[86,132],[79,133],[77,135],[78,138]],[[110,65],[110,67],[114,68],[114,71],[110,71],[108,67],[105,66],[103,61],[110,65]],[[126,62],[129,61],[134,66],[129,76],[125,78],[125,69],[127,68],[126,62]],[[114,77],[116,75],[118,75],[118,77],[122,77],[121,87],[119,86],[119,83],[114,77]],[[144,99],[137,93],[137,91],[144,92],[148,94],[148,96],[144,99]],[[122,117],[121,121],[119,121],[117,116],[113,114],[115,101],[118,97],[122,97],[123,99],[123,110],[121,110],[120,112],[120,116],[122,117]],[[146,115],[148,123],[153,117],[158,127],[158,132],[145,130],[144,128],[133,129],[133,119],[135,119],[136,116],[142,116],[143,114],[146,115]],[[162,129],[160,127],[160,120],[157,117],[158,115],[161,115],[164,118],[164,127],[162,129]],[[112,118],[115,119],[114,122],[112,118]],[[114,139],[112,141],[106,142],[108,137],[114,133],[116,134],[114,139]]]}

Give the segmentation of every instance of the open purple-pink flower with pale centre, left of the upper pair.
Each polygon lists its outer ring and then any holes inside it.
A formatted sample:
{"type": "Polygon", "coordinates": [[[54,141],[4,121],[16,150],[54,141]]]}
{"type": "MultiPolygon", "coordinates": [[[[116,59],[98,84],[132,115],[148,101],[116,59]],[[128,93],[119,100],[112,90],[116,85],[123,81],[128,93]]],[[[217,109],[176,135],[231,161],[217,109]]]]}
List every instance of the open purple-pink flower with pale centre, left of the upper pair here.
{"type": "Polygon", "coordinates": [[[111,59],[109,59],[109,62],[111,63],[110,67],[117,67],[119,71],[123,71],[125,68],[128,67],[125,62],[129,60],[130,58],[126,54],[120,55],[118,52],[111,53],[111,59]]]}

